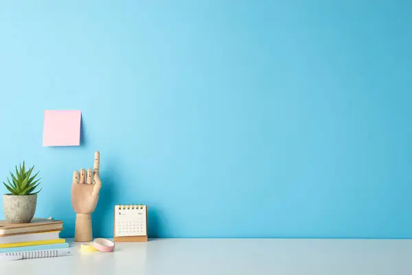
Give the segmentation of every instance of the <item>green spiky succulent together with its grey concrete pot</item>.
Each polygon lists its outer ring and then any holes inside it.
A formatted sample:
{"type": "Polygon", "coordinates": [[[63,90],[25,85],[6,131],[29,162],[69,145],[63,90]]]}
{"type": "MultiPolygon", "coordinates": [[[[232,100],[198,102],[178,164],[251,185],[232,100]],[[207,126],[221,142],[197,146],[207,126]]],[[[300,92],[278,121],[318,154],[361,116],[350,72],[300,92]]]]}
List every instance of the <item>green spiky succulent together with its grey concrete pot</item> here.
{"type": "Polygon", "coordinates": [[[5,219],[9,223],[30,223],[36,212],[37,193],[36,187],[40,179],[36,179],[38,172],[32,175],[34,166],[29,170],[25,170],[25,163],[19,169],[16,166],[16,175],[12,176],[11,182],[7,178],[8,184],[3,184],[10,192],[3,195],[3,211],[5,219]],[[36,192],[35,192],[36,191],[36,192]]]}

